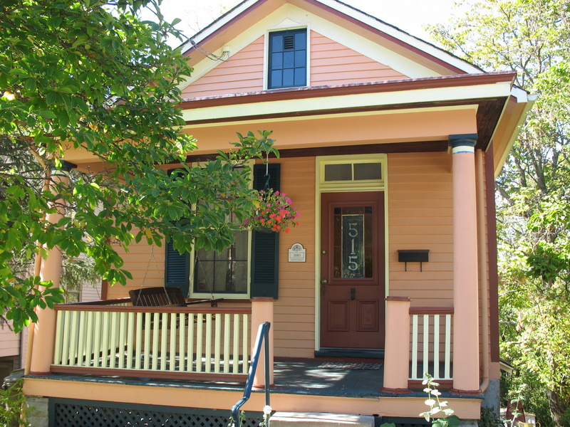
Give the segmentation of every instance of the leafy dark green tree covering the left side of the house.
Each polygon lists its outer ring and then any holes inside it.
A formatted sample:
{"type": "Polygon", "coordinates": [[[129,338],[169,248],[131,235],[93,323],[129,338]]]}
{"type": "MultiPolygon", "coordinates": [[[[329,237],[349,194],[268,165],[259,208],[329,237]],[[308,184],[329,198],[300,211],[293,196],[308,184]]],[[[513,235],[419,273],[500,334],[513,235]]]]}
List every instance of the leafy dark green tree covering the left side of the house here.
{"type": "Polygon", "coordinates": [[[58,248],[86,254],[124,284],[115,248],[166,239],[178,251],[220,250],[252,210],[244,159],[272,149],[271,132],[238,135],[204,168],[186,164],[178,85],[190,68],[166,43],[177,31],[160,0],[4,0],[0,4],[0,310],[16,332],[61,290],[21,265],[58,248]],[[140,21],[147,7],[156,22],[140,21]],[[66,151],[86,149],[100,170],[70,173],[66,151]],[[167,165],[167,166],[166,166],[167,165]],[[166,169],[179,168],[168,174],[166,169]],[[192,209],[192,206],[197,206],[192,209]],[[66,209],[58,223],[47,214],[66,209]]]}

